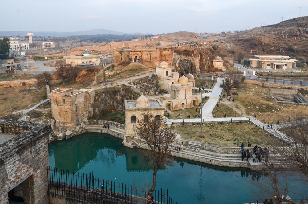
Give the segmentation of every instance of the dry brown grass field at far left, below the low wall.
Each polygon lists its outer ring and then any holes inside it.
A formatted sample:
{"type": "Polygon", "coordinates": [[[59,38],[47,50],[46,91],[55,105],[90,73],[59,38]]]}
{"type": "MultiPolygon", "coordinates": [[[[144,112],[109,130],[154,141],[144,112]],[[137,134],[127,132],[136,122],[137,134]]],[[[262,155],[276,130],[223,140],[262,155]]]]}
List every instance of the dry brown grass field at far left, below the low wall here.
{"type": "Polygon", "coordinates": [[[32,87],[35,87],[34,84],[0,88],[0,115],[28,109],[46,99],[45,87],[29,89],[32,87]]]}

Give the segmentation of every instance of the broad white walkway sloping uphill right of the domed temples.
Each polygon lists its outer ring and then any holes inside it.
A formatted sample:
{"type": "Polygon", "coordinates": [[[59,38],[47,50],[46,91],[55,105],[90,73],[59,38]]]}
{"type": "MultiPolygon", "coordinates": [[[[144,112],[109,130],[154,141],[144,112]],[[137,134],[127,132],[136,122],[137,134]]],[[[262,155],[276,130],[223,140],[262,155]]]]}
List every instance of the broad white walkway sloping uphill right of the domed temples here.
{"type": "MultiPolygon", "coordinates": [[[[212,92],[209,93],[209,99],[208,101],[203,105],[202,107],[202,118],[203,119],[213,119],[213,114],[212,111],[215,108],[217,102],[219,101],[219,97],[222,92],[222,88],[220,88],[220,84],[222,83],[223,79],[218,77],[217,82],[212,89],[212,92]]],[[[207,94],[207,93],[206,93],[207,94]]],[[[203,97],[203,94],[202,94],[203,97]]],[[[200,110],[200,115],[201,115],[201,110],[200,110]]]]}

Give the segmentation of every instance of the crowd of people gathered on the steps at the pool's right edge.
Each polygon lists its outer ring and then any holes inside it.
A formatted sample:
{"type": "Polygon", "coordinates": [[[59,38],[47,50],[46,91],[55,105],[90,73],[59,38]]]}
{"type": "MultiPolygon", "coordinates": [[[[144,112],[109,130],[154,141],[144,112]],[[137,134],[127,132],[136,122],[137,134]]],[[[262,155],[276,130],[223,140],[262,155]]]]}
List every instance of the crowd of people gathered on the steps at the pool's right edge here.
{"type": "MultiPolygon", "coordinates": [[[[251,147],[251,141],[250,139],[247,140],[247,145],[248,147],[251,147]]],[[[246,161],[248,161],[248,159],[250,157],[253,158],[253,162],[260,162],[262,163],[262,158],[265,157],[265,161],[268,160],[268,156],[270,154],[270,147],[265,147],[264,149],[262,149],[261,147],[258,147],[258,145],[254,146],[253,148],[253,154],[249,152],[249,149],[245,149],[244,150],[244,143],[242,143],[241,145],[241,149],[242,149],[242,154],[241,154],[241,158],[242,161],[246,158],[246,161]],[[257,161],[256,161],[257,159],[257,161]]]]}

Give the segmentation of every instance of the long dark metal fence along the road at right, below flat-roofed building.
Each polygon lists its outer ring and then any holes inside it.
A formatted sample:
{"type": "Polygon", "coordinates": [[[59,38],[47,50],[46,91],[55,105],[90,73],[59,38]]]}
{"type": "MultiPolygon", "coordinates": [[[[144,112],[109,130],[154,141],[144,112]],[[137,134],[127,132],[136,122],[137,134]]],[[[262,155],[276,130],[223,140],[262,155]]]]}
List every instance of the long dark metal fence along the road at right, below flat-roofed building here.
{"type": "MultiPolygon", "coordinates": [[[[198,74],[198,76],[218,76],[218,77],[230,77],[230,74],[198,74]]],[[[284,80],[284,79],[276,79],[270,77],[257,77],[257,76],[244,76],[244,75],[232,75],[235,78],[242,78],[245,77],[246,80],[257,80],[257,81],[267,81],[267,82],[275,82],[275,83],[282,83],[282,84],[295,84],[295,85],[302,85],[308,86],[308,81],[299,81],[299,80],[284,80]]]]}

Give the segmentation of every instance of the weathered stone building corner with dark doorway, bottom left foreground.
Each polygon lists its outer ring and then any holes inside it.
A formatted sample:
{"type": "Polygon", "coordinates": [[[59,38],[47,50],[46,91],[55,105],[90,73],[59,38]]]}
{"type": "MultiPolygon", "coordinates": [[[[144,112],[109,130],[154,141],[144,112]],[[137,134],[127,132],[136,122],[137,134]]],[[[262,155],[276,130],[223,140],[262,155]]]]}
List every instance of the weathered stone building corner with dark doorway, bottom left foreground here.
{"type": "Polygon", "coordinates": [[[48,204],[45,168],[50,125],[14,120],[0,120],[0,124],[7,133],[18,134],[0,144],[0,203],[8,204],[7,192],[18,185],[24,203],[48,204]]]}

